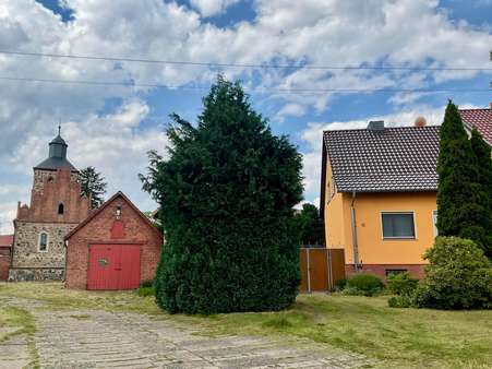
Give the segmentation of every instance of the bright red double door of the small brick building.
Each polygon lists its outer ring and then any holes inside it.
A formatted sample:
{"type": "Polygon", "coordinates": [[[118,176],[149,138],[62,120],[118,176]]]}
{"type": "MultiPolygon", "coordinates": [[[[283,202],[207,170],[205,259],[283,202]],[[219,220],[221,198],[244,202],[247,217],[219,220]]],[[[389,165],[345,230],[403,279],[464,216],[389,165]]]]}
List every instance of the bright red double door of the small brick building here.
{"type": "Polygon", "coordinates": [[[87,289],[133,289],[139,284],[140,246],[91,246],[87,289]]]}

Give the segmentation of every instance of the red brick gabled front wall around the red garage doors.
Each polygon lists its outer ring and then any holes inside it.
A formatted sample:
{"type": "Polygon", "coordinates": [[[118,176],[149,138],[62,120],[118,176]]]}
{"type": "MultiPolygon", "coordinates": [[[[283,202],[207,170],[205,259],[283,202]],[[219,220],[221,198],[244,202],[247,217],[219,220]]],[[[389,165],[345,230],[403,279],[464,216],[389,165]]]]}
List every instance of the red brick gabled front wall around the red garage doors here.
{"type": "Polygon", "coordinates": [[[68,288],[85,289],[87,287],[87,265],[89,246],[94,243],[140,243],[141,246],[141,282],[154,278],[160,258],[163,235],[149,226],[128,204],[123,198],[115,199],[100,213],[92,218],[84,227],[69,238],[67,248],[67,278],[68,288]],[[121,206],[123,235],[121,238],[111,237],[115,214],[121,206]]]}

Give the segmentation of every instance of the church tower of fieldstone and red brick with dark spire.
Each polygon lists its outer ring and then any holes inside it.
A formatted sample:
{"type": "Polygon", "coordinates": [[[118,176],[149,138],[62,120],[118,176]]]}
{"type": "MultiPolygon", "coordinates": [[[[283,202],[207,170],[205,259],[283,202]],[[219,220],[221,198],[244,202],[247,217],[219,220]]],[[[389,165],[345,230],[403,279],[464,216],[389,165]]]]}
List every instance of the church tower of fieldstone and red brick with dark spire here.
{"type": "Polygon", "coordinates": [[[67,147],[59,128],[48,158],[34,167],[31,204],[17,204],[10,281],[64,277],[63,237],[91,209],[91,199],[81,195],[79,170],[67,159],[67,147]]]}

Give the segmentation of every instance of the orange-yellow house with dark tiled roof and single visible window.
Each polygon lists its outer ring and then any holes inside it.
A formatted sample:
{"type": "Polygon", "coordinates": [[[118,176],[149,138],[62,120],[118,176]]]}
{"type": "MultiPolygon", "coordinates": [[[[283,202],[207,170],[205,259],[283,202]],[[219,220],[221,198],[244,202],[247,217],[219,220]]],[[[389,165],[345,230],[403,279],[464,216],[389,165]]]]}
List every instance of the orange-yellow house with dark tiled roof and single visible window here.
{"type": "Polygon", "coordinates": [[[423,275],[436,236],[439,127],[325,131],[321,214],[346,273],[423,275]]]}

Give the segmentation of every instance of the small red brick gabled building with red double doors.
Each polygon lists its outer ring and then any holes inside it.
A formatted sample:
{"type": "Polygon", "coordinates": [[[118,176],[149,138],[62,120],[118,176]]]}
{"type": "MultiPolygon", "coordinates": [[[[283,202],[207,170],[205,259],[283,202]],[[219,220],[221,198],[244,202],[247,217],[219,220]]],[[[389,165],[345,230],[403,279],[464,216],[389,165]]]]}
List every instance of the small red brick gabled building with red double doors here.
{"type": "Polygon", "coordinates": [[[118,192],[65,241],[68,288],[131,289],[154,278],[163,234],[118,192]]]}

